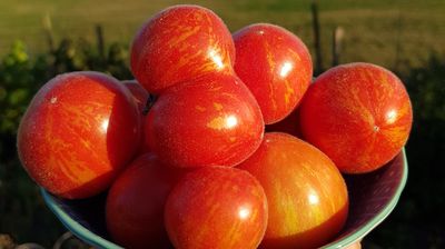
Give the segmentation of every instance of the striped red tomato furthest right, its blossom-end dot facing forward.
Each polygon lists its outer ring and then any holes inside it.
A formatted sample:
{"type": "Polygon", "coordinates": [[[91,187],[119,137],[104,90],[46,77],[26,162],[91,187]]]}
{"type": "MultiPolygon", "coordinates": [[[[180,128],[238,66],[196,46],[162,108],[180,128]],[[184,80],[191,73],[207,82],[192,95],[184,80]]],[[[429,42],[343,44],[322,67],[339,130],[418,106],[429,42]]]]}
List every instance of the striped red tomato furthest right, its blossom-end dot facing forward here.
{"type": "Polygon", "coordinates": [[[376,170],[406,143],[413,110],[403,82],[370,63],[349,63],[320,74],[300,112],[307,141],[345,173],[376,170]]]}

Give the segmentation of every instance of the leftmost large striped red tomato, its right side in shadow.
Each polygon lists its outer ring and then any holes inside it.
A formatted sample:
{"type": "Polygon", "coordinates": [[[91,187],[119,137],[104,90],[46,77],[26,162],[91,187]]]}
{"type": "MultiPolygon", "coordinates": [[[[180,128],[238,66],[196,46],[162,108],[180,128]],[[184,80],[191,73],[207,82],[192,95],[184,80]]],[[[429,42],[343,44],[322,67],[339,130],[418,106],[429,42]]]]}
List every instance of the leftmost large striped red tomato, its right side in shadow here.
{"type": "Polygon", "coordinates": [[[33,97],[20,122],[17,146],[23,168],[59,197],[103,191],[139,147],[140,116],[131,98],[103,73],[53,78],[33,97]]]}

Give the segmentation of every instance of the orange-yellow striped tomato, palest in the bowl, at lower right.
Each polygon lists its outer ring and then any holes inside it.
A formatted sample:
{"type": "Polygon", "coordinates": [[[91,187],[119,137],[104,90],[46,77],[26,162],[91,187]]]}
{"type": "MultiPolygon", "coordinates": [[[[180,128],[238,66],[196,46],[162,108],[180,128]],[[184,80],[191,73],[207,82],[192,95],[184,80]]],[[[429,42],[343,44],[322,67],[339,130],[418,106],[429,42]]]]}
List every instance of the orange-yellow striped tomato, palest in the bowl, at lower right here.
{"type": "Polygon", "coordinates": [[[309,143],[281,132],[238,166],[261,183],[269,209],[261,248],[316,248],[333,239],[348,212],[346,183],[333,161],[309,143]]]}

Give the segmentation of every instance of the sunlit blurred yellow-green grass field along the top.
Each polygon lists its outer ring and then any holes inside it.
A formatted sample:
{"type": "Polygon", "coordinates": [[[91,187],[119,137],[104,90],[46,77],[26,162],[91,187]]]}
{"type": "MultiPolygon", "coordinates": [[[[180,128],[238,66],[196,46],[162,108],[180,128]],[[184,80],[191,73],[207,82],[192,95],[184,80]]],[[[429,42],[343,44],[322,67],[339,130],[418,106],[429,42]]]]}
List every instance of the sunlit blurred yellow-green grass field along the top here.
{"type": "MultiPolygon", "coordinates": [[[[31,53],[48,51],[42,20],[49,16],[56,41],[61,38],[95,40],[101,24],[108,42],[129,43],[155,12],[177,0],[2,0],[0,54],[13,40],[23,40],[31,53]]],[[[310,0],[187,1],[217,12],[231,31],[253,22],[280,24],[313,48],[310,0]]],[[[445,1],[441,0],[319,0],[324,66],[330,63],[332,32],[345,29],[340,61],[368,61],[394,68],[423,63],[432,52],[445,52],[445,1]],[[398,52],[397,52],[398,51],[398,52]]]]}

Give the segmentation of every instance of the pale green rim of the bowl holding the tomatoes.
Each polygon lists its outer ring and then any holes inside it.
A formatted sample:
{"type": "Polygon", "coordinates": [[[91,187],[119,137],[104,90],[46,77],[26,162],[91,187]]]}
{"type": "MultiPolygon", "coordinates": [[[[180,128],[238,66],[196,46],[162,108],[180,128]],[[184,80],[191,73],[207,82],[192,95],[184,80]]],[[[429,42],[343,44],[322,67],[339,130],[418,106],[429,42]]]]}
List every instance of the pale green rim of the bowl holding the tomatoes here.
{"type": "MultiPolygon", "coordinates": [[[[389,213],[396,207],[408,178],[408,161],[406,158],[405,148],[402,148],[400,152],[403,156],[402,180],[400,183],[397,186],[397,189],[394,196],[392,197],[390,201],[388,201],[388,203],[386,203],[386,206],[375,217],[373,217],[368,222],[366,222],[354,233],[346,236],[335,242],[330,242],[322,247],[322,249],[346,248],[348,246],[352,246],[353,243],[362,240],[366,235],[368,235],[375,227],[382,223],[389,216],[389,213]]],[[[60,220],[60,222],[75,236],[77,236],[78,238],[80,238],[81,240],[93,247],[107,248],[107,249],[123,249],[122,247],[91,232],[82,225],[80,225],[77,220],[68,216],[68,213],[63,211],[63,209],[55,201],[51,193],[49,193],[42,187],[40,187],[40,192],[48,208],[56,215],[56,217],[60,220]]]]}

